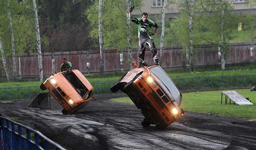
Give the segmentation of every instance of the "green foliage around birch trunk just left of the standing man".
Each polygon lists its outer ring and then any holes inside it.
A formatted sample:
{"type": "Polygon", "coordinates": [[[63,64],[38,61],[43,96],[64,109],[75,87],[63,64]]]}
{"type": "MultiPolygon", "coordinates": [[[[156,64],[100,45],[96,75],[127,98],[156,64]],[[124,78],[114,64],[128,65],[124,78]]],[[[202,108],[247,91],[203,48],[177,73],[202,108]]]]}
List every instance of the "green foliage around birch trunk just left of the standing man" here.
{"type": "MultiPolygon", "coordinates": [[[[90,37],[99,38],[99,2],[86,11],[92,30],[90,37]]],[[[134,28],[131,27],[133,30],[134,28]]],[[[102,35],[105,48],[126,49],[126,1],[102,1],[102,35]]],[[[131,39],[134,35],[131,34],[131,39]]]]}

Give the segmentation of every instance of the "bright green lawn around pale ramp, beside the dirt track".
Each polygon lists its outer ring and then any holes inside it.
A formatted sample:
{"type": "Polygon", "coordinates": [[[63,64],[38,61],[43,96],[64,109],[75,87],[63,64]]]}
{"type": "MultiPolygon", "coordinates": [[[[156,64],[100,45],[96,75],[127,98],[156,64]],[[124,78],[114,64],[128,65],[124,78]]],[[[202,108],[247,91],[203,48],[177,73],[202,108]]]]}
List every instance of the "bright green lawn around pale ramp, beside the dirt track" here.
{"type": "MultiPolygon", "coordinates": [[[[256,92],[250,92],[249,89],[235,90],[244,97],[249,97],[253,102],[252,106],[238,106],[220,104],[221,91],[204,91],[204,92],[188,92],[183,94],[183,102],[181,107],[185,111],[213,113],[219,115],[235,116],[256,119],[256,92]]],[[[223,96],[223,100],[225,97],[223,96]]],[[[129,97],[112,99],[113,102],[124,102],[133,105],[129,97]]],[[[228,100],[229,102],[229,100],[228,100]]]]}

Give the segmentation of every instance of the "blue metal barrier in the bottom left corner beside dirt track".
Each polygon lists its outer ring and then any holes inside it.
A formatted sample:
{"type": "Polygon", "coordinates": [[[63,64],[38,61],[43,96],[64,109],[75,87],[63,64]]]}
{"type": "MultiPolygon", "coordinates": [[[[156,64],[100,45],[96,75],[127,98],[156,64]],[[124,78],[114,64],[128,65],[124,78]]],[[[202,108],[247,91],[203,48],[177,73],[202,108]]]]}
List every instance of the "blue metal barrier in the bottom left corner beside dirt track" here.
{"type": "Polygon", "coordinates": [[[0,116],[0,150],[65,149],[41,132],[0,116]]]}

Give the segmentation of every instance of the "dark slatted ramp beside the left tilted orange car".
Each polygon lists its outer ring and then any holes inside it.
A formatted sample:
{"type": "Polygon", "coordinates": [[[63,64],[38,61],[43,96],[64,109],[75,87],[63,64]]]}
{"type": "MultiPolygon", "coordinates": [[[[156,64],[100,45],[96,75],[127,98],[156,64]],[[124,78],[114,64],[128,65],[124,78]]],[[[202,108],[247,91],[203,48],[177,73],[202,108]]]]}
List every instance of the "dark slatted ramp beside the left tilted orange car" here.
{"type": "Polygon", "coordinates": [[[49,92],[38,93],[33,101],[31,101],[28,108],[51,109],[51,97],[49,92]]]}

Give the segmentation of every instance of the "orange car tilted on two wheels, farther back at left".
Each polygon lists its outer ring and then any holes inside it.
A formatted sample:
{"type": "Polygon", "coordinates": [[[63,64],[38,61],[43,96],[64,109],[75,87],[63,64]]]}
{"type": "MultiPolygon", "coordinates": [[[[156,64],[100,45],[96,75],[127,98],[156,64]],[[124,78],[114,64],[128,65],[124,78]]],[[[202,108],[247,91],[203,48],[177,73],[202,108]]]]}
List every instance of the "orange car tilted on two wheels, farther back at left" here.
{"type": "Polygon", "coordinates": [[[67,114],[80,110],[93,99],[93,87],[78,70],[68,70],[52,74],[40,86],[48,90],[63,107],[62,113],[67,114]]]}

